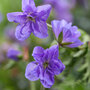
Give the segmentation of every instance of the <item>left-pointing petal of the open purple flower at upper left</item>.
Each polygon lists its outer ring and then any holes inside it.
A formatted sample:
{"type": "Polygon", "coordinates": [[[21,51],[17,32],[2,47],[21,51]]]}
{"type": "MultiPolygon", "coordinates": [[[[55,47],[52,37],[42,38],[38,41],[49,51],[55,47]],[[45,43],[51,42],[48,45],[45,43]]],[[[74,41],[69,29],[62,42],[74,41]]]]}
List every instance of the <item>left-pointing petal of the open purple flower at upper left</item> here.
{"type": "Polygon", "coordinates": [[[24,15],[22,12],[8,13],[7,18],[10,22],[15,23],[24,23],[26,21],[26,15],[24,15]]]}

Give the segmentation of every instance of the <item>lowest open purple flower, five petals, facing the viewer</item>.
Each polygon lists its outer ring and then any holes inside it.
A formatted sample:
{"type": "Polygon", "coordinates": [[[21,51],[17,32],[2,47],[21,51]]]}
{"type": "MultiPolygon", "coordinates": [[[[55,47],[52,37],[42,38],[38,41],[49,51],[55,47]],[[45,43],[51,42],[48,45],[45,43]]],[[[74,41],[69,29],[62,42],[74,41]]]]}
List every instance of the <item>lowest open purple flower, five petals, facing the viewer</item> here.
{"type": "Polygon", "coordinates": [[[40,79],[45,88],[50,88],[54,84],[54,76],[65,69],[64,64],[58,59],[58,46],[54,45],[46,50],[37,46],[32,56],[35,61],[27,65],[25,77],[31,81],[40,79]]]}

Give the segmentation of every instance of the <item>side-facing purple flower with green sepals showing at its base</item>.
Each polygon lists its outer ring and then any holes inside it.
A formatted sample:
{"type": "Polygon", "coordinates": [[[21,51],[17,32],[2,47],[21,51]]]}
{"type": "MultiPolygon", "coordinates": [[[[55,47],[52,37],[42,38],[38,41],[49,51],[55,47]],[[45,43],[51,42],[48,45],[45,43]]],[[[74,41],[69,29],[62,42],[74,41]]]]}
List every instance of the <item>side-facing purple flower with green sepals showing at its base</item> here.
{"type": "Polygon", "coordinates": [[[72,23],[67,23],[65,20],[53,20],[51,22],[53,32],[56,36],[56,39],[59,39],[59,35],[62,34],[61,45],[65,45],[70,48],[78,47],[83,43],[79,40],[81,36],[80,31],[76,26],[71,26],[72,23]]]}

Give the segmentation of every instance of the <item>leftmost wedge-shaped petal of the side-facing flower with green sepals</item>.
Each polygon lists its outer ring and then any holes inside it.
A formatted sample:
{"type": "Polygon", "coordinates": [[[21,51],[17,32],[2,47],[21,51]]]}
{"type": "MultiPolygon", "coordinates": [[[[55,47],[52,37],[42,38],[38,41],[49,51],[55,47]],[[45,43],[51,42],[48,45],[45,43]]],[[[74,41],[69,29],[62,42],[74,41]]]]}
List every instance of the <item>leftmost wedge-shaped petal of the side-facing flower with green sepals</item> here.
{"type": "Polygon", "coordinates": [[[60,32],[63,30],[63,27],[67,24],[67,22],[65,20],[62,21],[53,20],[51,24],[52,24],[53,32],[56,38],[58,39],[60,32]]]}

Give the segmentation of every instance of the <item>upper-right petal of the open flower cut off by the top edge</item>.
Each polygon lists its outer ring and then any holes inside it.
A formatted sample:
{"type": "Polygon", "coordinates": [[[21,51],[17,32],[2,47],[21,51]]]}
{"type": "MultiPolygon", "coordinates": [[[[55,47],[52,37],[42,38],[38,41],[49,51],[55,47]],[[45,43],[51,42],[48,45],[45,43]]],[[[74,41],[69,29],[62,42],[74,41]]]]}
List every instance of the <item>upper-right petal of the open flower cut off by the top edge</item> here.
{"type": "Polygon", "coordinates": [[[42,20],[47,20],[49,14],[51,11],[51,5],[47,4],[47,5],[42,5],[42,6],[38,6],[37,7],[37,12],[39,14],[39,18],[41,17],[42,20]]]}

